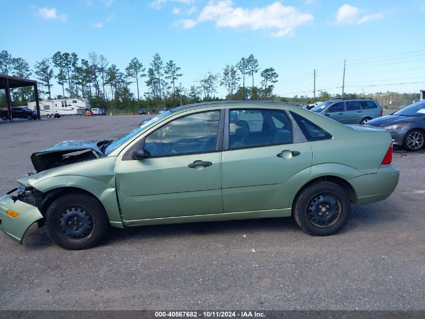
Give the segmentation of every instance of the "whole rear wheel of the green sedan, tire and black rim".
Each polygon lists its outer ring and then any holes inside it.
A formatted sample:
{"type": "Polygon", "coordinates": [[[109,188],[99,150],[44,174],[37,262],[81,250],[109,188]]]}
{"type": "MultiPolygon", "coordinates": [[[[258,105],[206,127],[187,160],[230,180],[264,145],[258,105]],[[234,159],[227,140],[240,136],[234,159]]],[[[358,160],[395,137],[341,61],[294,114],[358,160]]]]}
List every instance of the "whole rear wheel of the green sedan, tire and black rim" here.
{"type": "Polygon", "coordinates": [[[341,230],[350,213],[351,202],[345,190],[328,181],[306,186],[297,195],[293,206],[295,221],[313,236],[328,236],[341,230]]]}

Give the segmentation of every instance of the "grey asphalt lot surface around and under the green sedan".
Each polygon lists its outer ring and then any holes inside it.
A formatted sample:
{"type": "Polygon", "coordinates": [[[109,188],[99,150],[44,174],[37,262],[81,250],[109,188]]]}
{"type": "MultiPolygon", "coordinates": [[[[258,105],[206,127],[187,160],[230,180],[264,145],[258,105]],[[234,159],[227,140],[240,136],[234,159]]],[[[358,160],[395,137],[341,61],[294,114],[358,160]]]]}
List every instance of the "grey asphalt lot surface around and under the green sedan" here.
{"type": "MultiPolygon", "coordinates": [[[[114,139],[144,115],[0,122],[0,193],[63,140],[114,139]]],[[[367,154],[365,154],[367,156],[367,154]]],[[[0,309],[425,309],[425,150],[396,150],[387,200],[329,237],[292,218],[110,228],[67,251],[33,225],[0,233],[0,309]]]]}

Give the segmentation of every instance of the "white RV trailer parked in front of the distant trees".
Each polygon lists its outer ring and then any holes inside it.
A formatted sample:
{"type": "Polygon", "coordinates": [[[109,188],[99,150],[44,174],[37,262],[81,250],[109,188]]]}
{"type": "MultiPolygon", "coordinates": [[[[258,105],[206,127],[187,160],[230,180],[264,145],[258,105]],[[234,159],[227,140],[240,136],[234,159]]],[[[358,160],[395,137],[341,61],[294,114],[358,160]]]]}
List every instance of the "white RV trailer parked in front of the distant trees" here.
{"type": "MultiPolygon", "coordinates": [[[[40,115],[47,118],[59,117],[59,115],[83,115],[91,108],[90,101],[86,98],[43,100],[39,101],[39,104],[40,115]]],[[[35,102],[28,102],[28,108],[35,110],[35,102]]]]}

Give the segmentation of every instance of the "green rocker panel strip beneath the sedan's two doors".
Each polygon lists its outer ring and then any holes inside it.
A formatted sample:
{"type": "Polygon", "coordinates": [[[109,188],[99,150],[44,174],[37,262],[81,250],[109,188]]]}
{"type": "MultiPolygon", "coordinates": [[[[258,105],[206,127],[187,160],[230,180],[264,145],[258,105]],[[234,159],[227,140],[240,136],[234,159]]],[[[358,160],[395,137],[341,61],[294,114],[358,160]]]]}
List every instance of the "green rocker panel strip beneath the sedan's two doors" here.
{"type": "MultiPolygon", "coordinates": [[[[209,215],[192,215],[192,216],[179,216],[179,217],[166,217],[166,218],[151,218],[151,219],[137,219],[127,220],[127,226],[143,226],[143,225],[163,225],[163,224],[181,224],[181,223],[196,223],[196,222],[210,222],[222,220],[238,220],[238,219],[257,219],[257,218],[272,218],[272,217],[289,217],[291,216],[291,209],[273,209],[267,211],[251,211],[251,212],[237,212],[237,213],[221,213],[209,215]]],[[[114,226],[114,225],[112,225],[114,226]]]]}

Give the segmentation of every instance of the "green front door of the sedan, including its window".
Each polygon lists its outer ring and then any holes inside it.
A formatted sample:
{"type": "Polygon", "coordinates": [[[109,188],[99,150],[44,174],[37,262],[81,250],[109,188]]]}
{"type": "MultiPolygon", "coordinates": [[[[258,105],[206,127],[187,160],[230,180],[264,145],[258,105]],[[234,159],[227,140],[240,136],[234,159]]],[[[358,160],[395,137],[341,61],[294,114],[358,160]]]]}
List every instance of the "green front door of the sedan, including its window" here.
{"type": "Polygon", "coordinates": [[[129,225],[223,212],[222,112],[192,113],[169,121],[139,142],[146,158],[128,159],[124,154],[117,159],[118,199],[129,225]]]}

